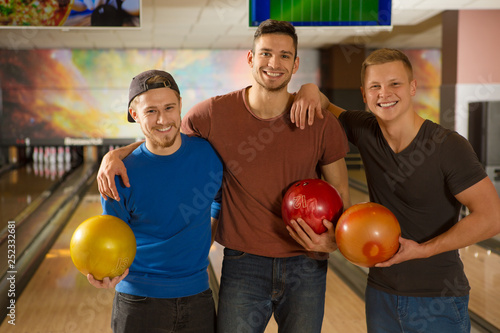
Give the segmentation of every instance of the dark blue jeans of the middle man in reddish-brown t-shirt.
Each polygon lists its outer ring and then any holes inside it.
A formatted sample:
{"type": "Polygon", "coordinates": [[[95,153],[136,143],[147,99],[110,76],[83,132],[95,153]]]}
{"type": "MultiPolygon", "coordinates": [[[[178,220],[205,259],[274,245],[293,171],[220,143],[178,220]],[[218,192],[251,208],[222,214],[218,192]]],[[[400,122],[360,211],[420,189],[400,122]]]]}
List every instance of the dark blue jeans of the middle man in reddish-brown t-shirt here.
{"type": "Polygon", "coordinates": [[[279,332],[320,333],[326,260],[268,258],[224,249],[217,332],[264,332],[271,315],[279,332]]]}

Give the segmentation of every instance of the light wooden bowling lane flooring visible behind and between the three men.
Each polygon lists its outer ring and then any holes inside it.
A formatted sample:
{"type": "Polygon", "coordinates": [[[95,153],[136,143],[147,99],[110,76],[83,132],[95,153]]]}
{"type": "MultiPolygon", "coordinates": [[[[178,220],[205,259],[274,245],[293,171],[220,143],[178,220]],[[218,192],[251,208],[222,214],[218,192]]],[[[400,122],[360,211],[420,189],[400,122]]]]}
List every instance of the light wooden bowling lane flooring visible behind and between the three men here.
{"type": "MultiPolygon", "coordinates": [[[[366,201],[362,193],[352,189],[351,197],[353,203],[366,201]]],[[[111,332],[114,291],[92,287],[73,266],[69,256],[73,231],[83,220],[101,211],[97,185],[94,184],[23,294],[16,298],[16,325],[8,324],[7,317],[0,332],[111,332]]],[[[460,252],[472,286],[471,310],[500,327],[498,255],[479,246],[470,246],[460,252]]],[[[210,256],[216,274],[220,274],[221,247],[217,244],[212,247],[210,256]]],[[[363,300],[329,270],[323,332],[366,332],[365,325],[363,300]]],[[[266,330],[266,333],[272,332],[277,332],[273,319],[266,330]]]]}

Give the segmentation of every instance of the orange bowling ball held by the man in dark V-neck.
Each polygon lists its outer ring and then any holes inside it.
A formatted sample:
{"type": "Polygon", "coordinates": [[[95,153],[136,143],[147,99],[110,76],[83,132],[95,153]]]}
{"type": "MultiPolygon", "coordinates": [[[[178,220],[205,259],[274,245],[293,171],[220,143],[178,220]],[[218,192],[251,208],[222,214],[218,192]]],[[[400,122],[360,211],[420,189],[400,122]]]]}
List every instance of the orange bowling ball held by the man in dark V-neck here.
{"type": "Polygon", "coordinates": [[[362,267],[372,267],[390,259],[399,249],[400,235],[396,216],[373,202],[349,207],[335,228],[340,253],[362,267]]]}

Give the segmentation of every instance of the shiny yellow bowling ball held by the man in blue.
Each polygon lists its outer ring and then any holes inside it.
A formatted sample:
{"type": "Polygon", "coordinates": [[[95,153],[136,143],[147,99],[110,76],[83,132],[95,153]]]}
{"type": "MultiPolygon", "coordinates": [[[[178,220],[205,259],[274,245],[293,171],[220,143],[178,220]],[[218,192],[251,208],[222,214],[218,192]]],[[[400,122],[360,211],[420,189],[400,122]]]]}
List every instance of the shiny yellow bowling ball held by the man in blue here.
{"type": "Polygon", "coordinates": [[[137,245],[132,229],[111,215],[98,215],[83,221],[71,237],[73,264],[84,275],[96,280],[122,275],[132,265],[137,245]]]}

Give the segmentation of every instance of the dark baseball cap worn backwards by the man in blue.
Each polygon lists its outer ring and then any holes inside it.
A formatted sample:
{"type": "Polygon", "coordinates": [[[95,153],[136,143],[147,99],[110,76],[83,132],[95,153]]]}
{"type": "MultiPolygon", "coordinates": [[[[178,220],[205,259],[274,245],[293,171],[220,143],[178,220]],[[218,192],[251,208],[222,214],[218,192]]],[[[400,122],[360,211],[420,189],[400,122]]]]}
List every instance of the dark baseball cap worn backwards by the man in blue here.
{"type": "Polygon", "coordinates": [[[135,123],[134,118],[130,115],[130,112],[128,112],[128,109],[130,108],[130,103],[134,98],[136,98],[138,95],[142,94],[143,92],[146,92],[151,89],[157,89],[157,88],[170,88],[174,91],[177,91],[177,93],[180,95],[181,92],[179,91],[179,87],[177,86],[177,83],[175,82],[174,78],[172,75],[165,71],[160,71],[156,69],[152,69],[149,71],[142,72],[141,74],[135,76],[132,79],[132,82],[130,83],[130,88],[128,90],[128,108],[127,108],[127,115],[128,115],[128,121],[131,123],[135,123]],[[165,78],[164,82],[158,82],[158,83],[152,83],[152,84],[147,84],[146,82],[152,78],[153,76],[161,76],[165,78]]]}

